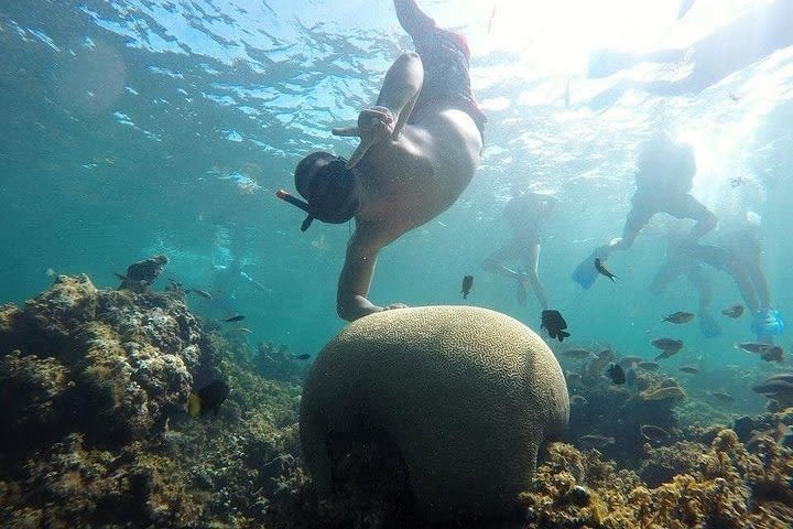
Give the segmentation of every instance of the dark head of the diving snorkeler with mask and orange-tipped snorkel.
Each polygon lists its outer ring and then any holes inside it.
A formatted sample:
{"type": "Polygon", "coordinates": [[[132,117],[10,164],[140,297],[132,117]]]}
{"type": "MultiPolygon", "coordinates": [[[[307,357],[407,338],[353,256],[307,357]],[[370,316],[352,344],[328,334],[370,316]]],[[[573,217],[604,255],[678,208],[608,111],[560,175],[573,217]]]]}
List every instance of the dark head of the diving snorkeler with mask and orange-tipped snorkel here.
{"type": "Polygon", "coordinates": [[[301,225],[305,231],[318,218],[323,223],[343,224],[358,210],[358,201],[352,198],[355,176],[347,169],[347,160],[327,152],[315,152],[304,158],[295,168],[295,187],[303,198],[279,190],[275,196],[308,215],[301,225]],[[317,163],[326,161],[316,168],[317,163]]]}

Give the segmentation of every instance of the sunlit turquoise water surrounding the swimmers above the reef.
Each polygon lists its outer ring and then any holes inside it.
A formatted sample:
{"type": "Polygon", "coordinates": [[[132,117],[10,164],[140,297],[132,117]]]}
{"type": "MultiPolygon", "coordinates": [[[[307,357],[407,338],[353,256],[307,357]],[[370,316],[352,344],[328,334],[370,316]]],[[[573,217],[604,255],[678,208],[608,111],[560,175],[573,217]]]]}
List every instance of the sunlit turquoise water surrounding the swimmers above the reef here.
{"type": "MultiPolygon", "coordinates": [[[[252,342],[312,354],[343,326],[336,281],[351,227],[314,223],[302,234],[302,215],[274,192],[293,188],[293,168],[307,152],[351,152],[352,140],[332,137],[330,128],[351,123],[374,101],[384,71],[411,43],[390,2],[294,3],[2,2],[1,301],[21,302],[59,273],[115,285],[115,271],[156,252],[171,259],[160,287],[174,278],[211,290],[216,267],[236,255],[262,288],[241,280],[228,288],[236,298],[227,305],[192,298],[196,312],[246,314],[252,342]]],[[[669,360],[672,371],[740,365],[757,376],[721,385],[715,376],[710,389],[748,388],[776,366],[734,349],[753,336],[747,315],[719,315],[740,301],[726,274],[708,271],[721,336],[660,323],[661,314],[696,309],[682,279],[660,296],[648,290],[669,217],[656,216],[630,251],[609,259],[616,283],[601,279],[583,291],[569,274],[621,233],[638,145],[665,127],[696,147],[695,196],[721,219],[747,210],[761,219],[773,304],[793,314],[793,47],[696,93],[629,89],[594,108],[599,93],[626,79],[684,77],[696,55],[593,79],[586,61],[595,50],[686,50],[771,2],[702,0],[680,21],[672,0],[642,9],[579,3],[422,2],[469,37],[487,141],[456,204],[381,252],[370,299],[463,303],[461,278],[474,274],[467,303],[537,330],[533,298],[520,305],[514,284],[488,276],[480,262],[508,240],[501,212],[513,190],[552,193],[560,204],[543,227],[540,278],[574,345],[649,357],[651,339],[680,337],[686,350],[669,360]]],[[[704,240],[717,241],[717,234],[704,240]]],[[[779,343],[790,347],[786,335],[779,343]]],[[[747,393],[735,406],[759,411],[762,399],[747,393]]]]}

